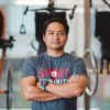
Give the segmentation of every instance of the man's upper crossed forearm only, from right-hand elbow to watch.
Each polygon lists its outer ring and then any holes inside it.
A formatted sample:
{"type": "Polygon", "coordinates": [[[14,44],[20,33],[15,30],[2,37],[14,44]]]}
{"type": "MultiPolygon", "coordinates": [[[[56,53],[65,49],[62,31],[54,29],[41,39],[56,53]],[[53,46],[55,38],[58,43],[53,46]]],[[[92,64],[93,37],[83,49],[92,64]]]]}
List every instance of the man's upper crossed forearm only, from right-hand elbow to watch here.
{"type": "Polygon", "coordinates": [[[79,85],[77,84],[62,84],[62,85],[56,85],[56,84],[50,84],[46,87],[47,91],[56,94],[61,97],[64,98],[70,98],[70,97],[77,97],[81,95],[81,89],[79,85]]]}

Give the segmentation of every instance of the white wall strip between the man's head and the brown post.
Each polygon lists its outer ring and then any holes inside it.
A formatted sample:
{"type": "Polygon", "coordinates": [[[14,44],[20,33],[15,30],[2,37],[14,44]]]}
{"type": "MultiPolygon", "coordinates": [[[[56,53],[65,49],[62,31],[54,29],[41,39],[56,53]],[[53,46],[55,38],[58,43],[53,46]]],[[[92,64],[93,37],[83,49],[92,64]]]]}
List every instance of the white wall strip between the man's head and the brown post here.
{"type": "Polygon", "coordinates": [[[70,26],[69,38],[66,45],[68,52],[75,51],[77,55],[84,55],[85,45],[85,24],[84,24],[84,9],[77,8],[73,21],[68,19],[70,26]]]}

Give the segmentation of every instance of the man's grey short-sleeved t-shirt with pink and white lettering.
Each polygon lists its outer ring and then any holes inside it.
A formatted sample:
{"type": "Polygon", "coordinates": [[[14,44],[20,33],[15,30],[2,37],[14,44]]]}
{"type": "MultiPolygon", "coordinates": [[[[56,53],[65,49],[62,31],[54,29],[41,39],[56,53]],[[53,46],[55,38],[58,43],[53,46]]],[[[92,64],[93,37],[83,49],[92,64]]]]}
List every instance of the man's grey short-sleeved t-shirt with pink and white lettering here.
{"type": "MultiPolygon", "coordinates": [[[[44,53],[24,62],[22,77],[35,76],[40,81],[65,84],[73,75],[87,75],[82,58],[67,53],[59,57],[52,57],[44,53]]],[[[33,101],[32,110],[77,110],[77,98],[33,101]]]]}

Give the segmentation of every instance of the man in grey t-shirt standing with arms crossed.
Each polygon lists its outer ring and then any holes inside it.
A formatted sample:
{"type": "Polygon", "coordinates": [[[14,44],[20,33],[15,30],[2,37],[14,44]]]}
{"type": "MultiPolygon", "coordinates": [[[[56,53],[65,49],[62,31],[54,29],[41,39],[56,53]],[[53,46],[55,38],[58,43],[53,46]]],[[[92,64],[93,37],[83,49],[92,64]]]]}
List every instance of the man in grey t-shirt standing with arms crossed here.
{"type": "Polygon", "coordinates": [[[64,52],[69,28],[62,19],[51,19],[43,28],[46,53],[25,61],[21,80],[32,110],[77,110],[77,97],[88,84],[81,58],[64,52]]]}

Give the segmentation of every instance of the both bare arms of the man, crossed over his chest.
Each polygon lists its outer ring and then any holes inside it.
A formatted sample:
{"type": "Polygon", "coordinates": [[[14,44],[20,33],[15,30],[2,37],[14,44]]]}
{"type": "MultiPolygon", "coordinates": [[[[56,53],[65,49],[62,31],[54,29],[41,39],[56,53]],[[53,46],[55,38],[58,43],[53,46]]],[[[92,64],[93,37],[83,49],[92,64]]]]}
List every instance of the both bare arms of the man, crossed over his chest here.
{"type": "Polygon", "coordinates": [[[21,87],[26,100],[51,101],[61,98],[72,98],[84,94],[88,85],[87,76],[72,76],[67,84],[52,84],[46,86],[44,91],[40,89],[38,81],[33,76],[22,78],[21,87]],[[36,85],[37,84],[37,85],[36,85]]]}

